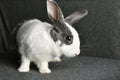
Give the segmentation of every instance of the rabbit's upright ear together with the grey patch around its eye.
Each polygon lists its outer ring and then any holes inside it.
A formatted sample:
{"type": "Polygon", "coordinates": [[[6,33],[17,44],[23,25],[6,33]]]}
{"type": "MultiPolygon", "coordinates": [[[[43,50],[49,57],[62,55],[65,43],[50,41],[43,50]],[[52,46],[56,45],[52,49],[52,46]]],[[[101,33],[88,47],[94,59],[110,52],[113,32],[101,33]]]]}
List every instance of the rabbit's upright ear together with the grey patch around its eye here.
{"type": "Polygon", "coordinates": [[[63,13],[58,4],[53,0],[47,0],[48,17],[54,23],[54,28],[50,31],[52,39],[56,42],[61,41],[61,44],[71,45],[73,35],[70,29],[65,24],[63,13]]]}

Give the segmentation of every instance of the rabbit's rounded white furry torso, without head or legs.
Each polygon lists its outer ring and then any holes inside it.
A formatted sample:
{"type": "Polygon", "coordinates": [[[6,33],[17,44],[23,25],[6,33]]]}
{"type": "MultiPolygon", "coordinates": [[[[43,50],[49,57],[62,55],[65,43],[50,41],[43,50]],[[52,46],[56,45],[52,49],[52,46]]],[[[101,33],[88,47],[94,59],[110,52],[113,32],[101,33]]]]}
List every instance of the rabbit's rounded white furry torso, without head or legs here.
{"type": "Polygon", "coordinates": [[[51,61],[59,55],[59,48],[50,36],[51,29],[52,25],[38,19],[24,22],[17,34],[20,53],[32,61],[51,61]]]}

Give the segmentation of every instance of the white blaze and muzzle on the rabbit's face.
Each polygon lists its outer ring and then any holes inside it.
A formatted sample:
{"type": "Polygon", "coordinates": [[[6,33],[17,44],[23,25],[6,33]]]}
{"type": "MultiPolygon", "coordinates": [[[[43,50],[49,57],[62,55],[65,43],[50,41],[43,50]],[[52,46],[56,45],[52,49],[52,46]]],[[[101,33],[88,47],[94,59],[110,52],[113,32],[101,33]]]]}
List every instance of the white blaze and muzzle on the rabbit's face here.
{"type": "Polygon", "coordinates": [[[80,39],[77,31],[68,23],[65,23],[67,27],[70,29],[70,31],[73,34],[73,43],[71,45],[63,45],[61,47],[61,51],[63,51],[63,54],[67,57],[74,57],[76,55],[80,54],[80,39]]]}

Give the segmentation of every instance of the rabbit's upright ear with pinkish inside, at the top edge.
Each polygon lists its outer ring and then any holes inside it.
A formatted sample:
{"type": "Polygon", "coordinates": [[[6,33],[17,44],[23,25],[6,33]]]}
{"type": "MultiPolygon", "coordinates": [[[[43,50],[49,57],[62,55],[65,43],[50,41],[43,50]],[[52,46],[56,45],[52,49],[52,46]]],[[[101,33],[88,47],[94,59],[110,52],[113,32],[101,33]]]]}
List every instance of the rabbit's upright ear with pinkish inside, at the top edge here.
{"type": "Polygon", "coordinates": [[[63,22],[64,16],[63,13],[58,6],[58,4],[54,0],[47,0],[47,12],[48,17],[53,22],[63,22]]]}

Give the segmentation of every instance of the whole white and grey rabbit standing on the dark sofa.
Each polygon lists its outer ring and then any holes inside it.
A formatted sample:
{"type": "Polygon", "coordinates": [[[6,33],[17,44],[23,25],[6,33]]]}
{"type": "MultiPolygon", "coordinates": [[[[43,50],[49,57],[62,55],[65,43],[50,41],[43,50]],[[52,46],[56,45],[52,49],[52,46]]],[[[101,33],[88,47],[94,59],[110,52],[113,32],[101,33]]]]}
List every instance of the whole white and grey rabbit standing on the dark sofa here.
{"type": "Polygon", "coordinates": [[[54,0],[47,0],[48,17],[53,24],[39,19],[24,21],[17,31],[16,40],[21,54],[19,72],[29,72],[34,62],[40,73],[51,73],[49,62],[60,62],[61,56],[75,57],[80,54],[80,39],[72,24],[88,14],[86,9],[64,18],[54,0]]]}

